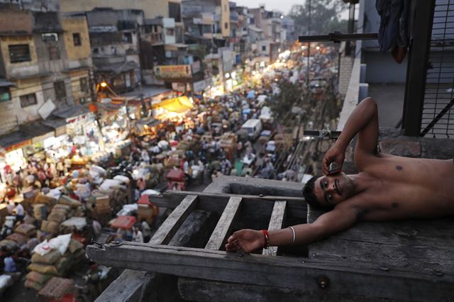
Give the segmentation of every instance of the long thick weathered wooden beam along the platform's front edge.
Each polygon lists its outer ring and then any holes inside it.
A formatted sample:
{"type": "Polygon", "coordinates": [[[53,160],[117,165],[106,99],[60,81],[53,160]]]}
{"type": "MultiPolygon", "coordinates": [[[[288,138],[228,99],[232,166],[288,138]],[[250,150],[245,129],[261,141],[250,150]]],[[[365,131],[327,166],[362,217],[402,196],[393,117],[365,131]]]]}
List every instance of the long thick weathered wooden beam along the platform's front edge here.
{"type": "Polygon", "coordinates": [[[177,276],[299,289],[304,293],[336,293],[381,298],[449,301],[454,296],[454,276],[390,268],[384,272],[355,268],[352,262],[317,262],[291,257],[243,255],[215,250],[124,242],[95,247],[87,253],[111,267],[150,270],[177,276]],[[121,262],[118,259],[122,259],[121,262]],[[272,277],[271,277],[272,276],[272,277]],[[328,286],[320,286],[320,278],[328,286]]]}

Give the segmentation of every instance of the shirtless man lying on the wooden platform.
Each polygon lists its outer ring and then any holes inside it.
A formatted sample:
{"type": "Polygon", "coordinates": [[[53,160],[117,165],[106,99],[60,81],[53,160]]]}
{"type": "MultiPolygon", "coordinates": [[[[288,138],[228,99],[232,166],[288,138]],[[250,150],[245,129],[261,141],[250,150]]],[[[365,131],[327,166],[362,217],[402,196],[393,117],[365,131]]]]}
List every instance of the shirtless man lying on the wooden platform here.
{"type": "Polygon", "coordinates": [[[454,161],[377,153],[378,114],[372,98],[364,99],[348,118],[336,143],[323,158],[322,177],[304,186],[309,205],[328,211],[314,223],[270,230],[238,230],[226,250],[252,252],[268,245],[304,245],[350,228],[357,221],[436,218],[454,214],[454,161]],[[345,148],[358,134],[358,174],[328,175],[331,162],[342,167],[345,148]]]}

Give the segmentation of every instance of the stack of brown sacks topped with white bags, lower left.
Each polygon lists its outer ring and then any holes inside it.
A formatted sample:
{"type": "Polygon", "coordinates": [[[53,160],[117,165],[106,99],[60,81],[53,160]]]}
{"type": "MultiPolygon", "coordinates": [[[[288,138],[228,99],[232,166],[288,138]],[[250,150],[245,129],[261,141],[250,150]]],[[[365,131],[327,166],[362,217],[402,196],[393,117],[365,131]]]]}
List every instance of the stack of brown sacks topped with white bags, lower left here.
{"type": "Polygon", "coordinates": [[[84,245],[71,238],[71,234],[45,240],[35,247],[26,287],[40,291],[52,276],[65,276],[73,264],[84,257],[84,245]]]}

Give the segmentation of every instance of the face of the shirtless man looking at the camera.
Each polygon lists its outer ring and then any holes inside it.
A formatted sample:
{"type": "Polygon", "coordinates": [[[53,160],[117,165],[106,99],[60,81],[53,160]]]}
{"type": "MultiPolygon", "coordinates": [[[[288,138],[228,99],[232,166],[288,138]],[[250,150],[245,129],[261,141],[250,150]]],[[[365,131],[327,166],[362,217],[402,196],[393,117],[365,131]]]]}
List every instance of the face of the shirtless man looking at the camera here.
{"type": "Polygon", "coordinates": [[[353,181],[344,172],[316,179],[314,194],[322,206],[336,206],[353,196],[353,181]]]}

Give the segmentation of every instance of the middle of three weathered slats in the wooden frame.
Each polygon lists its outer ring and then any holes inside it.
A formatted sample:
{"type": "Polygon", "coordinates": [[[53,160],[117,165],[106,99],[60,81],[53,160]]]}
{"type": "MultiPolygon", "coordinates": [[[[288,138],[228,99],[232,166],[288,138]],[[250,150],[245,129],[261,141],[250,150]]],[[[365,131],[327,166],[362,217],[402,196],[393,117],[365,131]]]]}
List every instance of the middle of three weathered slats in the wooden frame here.
{"type": "Polygon", "coordinates": [[[226,209],[223,211],[221,218],[219,218],[216,228],[214,228],[211,237],[206,243],[205,248],[209,250],[221,250],[227,236],[230,235],[233,226],[233,220],[238,214],[238,209],[241,204],[241,197],[231,197],[228,200],[226,209]]]}

